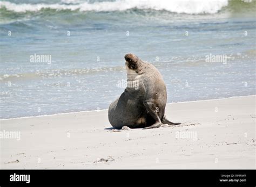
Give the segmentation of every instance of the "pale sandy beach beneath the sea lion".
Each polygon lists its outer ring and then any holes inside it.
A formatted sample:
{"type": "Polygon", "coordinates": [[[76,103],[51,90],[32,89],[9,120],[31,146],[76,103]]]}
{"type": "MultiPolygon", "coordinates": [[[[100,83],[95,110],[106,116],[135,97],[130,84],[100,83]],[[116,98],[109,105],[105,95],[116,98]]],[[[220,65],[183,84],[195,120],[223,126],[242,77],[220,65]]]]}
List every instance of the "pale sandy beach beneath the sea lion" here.
{"type": "Polygon", "coordinates": [[[114,130],[107,110],[1,120],[1,169],[255,169],[255,96],[166,106],[178,126],[114,130]]]}

